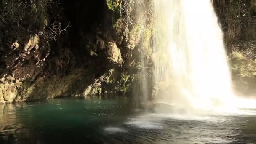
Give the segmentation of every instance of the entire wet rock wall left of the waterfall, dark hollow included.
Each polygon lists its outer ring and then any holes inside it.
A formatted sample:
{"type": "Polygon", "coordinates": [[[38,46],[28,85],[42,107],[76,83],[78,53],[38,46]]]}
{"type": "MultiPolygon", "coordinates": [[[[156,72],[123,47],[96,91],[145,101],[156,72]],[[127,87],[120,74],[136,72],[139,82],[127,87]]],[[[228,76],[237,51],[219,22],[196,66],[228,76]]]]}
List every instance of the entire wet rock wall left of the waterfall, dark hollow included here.
{"type": "MultiPolygon", "coordinates": [[[[29,3],[27,6],[28,10],[33,8],[29,3]]],[[[58,7],[47,3],[35,6],[52,6],[49,8],[56,11],[40,11],[32,16],[27,11],[16,11],[22,17],[16,19],[17,24],[26,26],[26,32],[22,27],[7,27],[11,16],[0,13],[0,19],[6,21],[4,28],[0,21],[0,102],[127,93],[138,79],[141,59],[137,51],[144,42],[140,42],[141,29],[133,30],[133,25],[125,23],[124,10],[120,16],[119,10],[108,8],[106,0],[72,4],[61,0],[58,7]],[[55,19],[53,14],[62,19],[55,19]],[[42,17],[32,19],[37,15],[42,17]],[[60,32],[58,24],[62,29],[69,22],[72,27],[60,32]],[[129,67],[134,69],[131,73],[129,67]]]]}

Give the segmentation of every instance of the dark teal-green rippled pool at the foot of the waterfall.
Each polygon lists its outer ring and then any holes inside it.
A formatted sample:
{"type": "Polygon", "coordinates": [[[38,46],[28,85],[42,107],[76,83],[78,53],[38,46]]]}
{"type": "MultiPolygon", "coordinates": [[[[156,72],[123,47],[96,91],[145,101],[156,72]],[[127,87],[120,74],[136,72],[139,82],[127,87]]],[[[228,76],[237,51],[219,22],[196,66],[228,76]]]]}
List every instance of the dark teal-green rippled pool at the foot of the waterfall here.
{"type": "Polygon", "coordinates": [[[0,104],[0,144],[254,144],[256,110],[244,111],[145,113],[124,97],[0,104]]]}

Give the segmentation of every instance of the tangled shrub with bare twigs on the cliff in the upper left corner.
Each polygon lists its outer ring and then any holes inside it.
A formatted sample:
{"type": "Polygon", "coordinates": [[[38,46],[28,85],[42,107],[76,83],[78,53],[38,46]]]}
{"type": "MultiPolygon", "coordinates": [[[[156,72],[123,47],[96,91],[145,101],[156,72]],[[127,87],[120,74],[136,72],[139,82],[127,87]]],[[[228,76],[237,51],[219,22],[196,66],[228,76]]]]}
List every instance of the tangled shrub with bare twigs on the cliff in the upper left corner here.
{"type": "MultiPolygon", "coordinates": [[[[2,0],[0,5],[0,37],[2,47],[14,41],[24,41],[26,36],[40,35],[46,41],[56,40],[67,27],[62,27],[59,0],[2,0]],[[3,43],[5,45],[3,45],[3,43]]],[[[3,49],[3,48],[2,48],[3,49]]]]}

